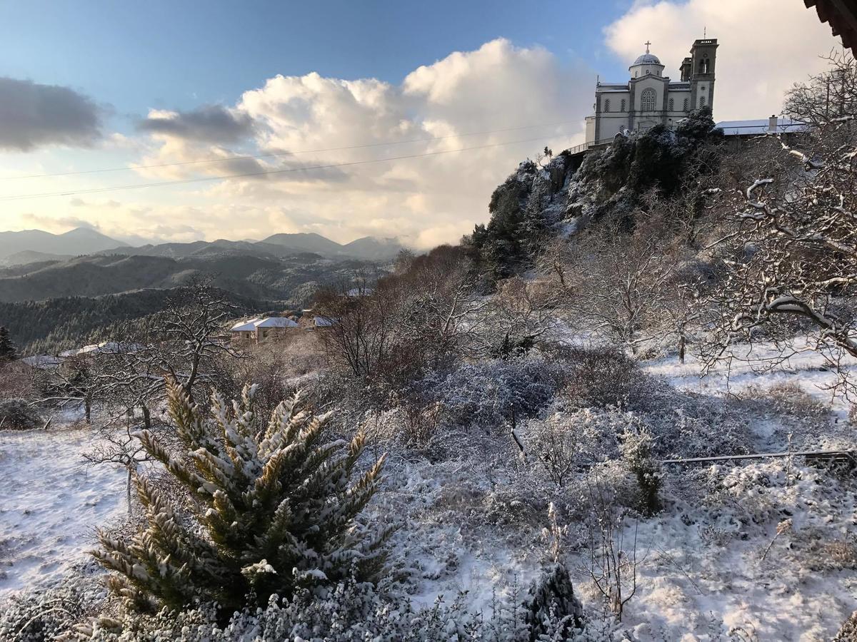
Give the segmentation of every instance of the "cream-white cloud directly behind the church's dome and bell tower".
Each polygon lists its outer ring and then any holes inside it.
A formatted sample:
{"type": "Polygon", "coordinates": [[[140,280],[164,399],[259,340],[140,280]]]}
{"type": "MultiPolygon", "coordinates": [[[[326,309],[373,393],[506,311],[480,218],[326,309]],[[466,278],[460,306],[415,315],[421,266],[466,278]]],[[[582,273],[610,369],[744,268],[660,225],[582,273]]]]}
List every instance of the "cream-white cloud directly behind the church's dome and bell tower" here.
{"type": "Polygon", "coordinates": [[[630,64],[651,40],[652,53],[677,77],[681,59],[689,55],[693,40],[702,38],[703,29],[720,45],[716,120],[780,113],[788,88],[824,68],[818,56],[840,46],[814,10],[792,0],[635,3],[605,29],[605,41],[630,64]]]}

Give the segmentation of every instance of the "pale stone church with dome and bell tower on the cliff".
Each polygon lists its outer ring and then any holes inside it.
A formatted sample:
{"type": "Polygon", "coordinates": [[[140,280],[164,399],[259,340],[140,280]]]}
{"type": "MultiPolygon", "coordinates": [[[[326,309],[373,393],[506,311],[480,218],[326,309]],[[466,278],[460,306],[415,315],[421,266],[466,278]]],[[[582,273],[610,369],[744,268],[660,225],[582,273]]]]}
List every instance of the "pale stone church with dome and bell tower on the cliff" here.
{"type": "Polygon", "coordinates": [[[649,51],[638,56],[626,83],[596,84],[595,113],[586,117],[586,146],[601,145],[625,130],[644,131],[661,123],[674,127],[687,112],[714,106],[717,39],[697,39],[679,68],[681,80],[670,80],[649,51]]]}

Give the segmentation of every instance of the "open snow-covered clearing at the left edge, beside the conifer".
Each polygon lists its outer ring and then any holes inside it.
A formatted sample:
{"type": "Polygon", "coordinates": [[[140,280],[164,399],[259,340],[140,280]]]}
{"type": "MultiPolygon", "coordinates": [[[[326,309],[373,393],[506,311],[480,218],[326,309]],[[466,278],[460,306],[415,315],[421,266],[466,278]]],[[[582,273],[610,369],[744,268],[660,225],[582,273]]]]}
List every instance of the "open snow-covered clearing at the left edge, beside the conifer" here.
{"type": "Polygon", "coordinates": [[[125,474],[87,466],[93,431],[0,431],[0,599],[60,580],[115,525],[125,507],[125,474]]]}

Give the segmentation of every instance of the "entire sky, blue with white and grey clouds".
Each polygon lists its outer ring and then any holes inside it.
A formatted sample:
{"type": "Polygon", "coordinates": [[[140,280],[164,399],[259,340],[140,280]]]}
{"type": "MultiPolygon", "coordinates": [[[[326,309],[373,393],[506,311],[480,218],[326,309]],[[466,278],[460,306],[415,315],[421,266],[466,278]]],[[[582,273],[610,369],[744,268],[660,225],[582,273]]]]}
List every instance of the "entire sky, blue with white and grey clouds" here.
{"type": "Polygon", "coordinates": [[[800,0],[0,3],[0,229],[456,242],[584,141],[596,77],[647,40],[677,77],[703,33],[716,120],[779,113],[838,45],[800,0]]]}

